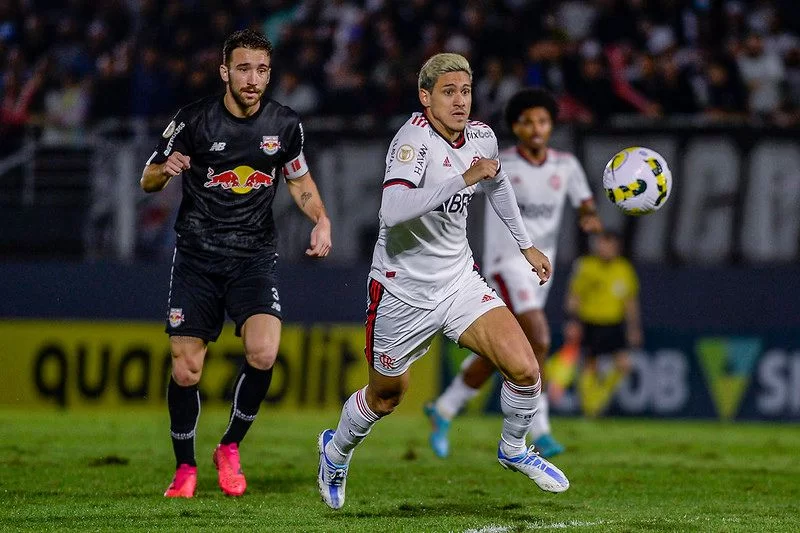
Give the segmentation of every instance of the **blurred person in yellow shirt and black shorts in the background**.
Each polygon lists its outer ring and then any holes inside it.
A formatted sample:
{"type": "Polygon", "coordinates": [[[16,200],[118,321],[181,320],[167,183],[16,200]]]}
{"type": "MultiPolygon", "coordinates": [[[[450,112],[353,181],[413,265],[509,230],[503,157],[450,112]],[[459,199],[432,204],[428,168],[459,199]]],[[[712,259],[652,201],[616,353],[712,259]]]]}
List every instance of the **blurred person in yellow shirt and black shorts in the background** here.
{"type": "Polygon", "coordinates": [[[630,371],[629,350],[642,346],[639,278],[621,248],[616,233],[595,235],[592,254],[576,259],[569,282],[567,327],[581,338],[584,368],[578,391],[588,416],[606,408],[630,371]],[[614,368],[601,377],[596,360],[606,354],[614,356],[614,368]]]}

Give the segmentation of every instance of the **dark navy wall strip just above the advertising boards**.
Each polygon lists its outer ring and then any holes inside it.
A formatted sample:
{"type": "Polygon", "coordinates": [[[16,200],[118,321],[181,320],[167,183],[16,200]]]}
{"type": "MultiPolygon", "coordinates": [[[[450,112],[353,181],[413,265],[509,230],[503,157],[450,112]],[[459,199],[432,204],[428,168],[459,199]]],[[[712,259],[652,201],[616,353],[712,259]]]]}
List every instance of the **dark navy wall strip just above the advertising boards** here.
{"type": "MultiPolygon", "coordinates": [[[[0,263],[0,317],[164,319],[168,262],[0,263]]],[[[639,265],[645,327],[761,331],[800,326],[800,267],[639,265]]],[[[369,265],[305,261],[280,268],[287,322],[361,322],[369,265]]],[[[551,320],[561,320],[567,269],[553,280],[551,320]]]]}

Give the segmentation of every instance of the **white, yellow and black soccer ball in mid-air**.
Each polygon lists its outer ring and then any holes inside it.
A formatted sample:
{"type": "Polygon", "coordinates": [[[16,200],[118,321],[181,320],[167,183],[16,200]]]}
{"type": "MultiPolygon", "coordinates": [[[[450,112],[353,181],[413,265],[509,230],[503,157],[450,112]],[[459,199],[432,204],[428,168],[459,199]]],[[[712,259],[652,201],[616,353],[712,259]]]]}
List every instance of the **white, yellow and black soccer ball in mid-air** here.
{"type": "Polygon", "coordinates": [[[614,154],[603,171],[603,188],[626,215],[647,215],[661,209],[672,190],[672,172],[664,157],[632,146],[614,154]]]}

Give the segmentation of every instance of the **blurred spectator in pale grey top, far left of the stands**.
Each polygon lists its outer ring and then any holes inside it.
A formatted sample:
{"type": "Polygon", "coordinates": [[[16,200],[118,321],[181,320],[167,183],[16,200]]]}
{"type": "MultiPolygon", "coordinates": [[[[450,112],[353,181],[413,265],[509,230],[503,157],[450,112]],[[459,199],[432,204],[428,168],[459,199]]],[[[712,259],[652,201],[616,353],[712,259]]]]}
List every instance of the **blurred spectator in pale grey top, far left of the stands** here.
{"type": "Polygon", "coordinates": [[[44,144],[83,144],[89,120],[89,81],[78,67],[67,68],[44,96],[41,141],[44,144]]]}

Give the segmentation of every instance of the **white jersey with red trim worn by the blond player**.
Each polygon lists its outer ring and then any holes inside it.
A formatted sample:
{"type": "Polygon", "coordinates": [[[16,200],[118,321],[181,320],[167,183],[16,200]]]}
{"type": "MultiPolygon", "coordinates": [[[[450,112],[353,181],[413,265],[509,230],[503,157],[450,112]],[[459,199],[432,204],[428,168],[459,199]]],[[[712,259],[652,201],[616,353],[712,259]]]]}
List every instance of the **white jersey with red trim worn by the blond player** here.
{"type": "MultiPolygon", "coordinates": [[[[484,157],[498,157],[497,138],[486,124],[470,121],[451,143],[422,113],[414,113],[389,147],[383,186],[436,187],[484,157]]],[[[391,228],[381,217],[370,277],[407,304],[425,309],[458,290],[459,279],[474,265],[467,206],[477,187],[465,187],[433,211],[391,228]]]]}

